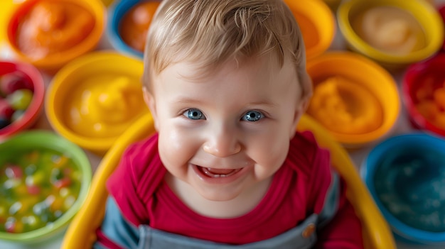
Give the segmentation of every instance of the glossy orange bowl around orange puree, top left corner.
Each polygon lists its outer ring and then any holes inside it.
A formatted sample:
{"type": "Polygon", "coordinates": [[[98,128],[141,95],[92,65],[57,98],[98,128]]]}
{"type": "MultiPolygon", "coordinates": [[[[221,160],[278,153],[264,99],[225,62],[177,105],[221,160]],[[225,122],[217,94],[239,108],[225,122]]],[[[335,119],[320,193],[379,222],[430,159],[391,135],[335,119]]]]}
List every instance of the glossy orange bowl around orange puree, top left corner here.
{"type": "Polygon", "coordinates": [[[57,52],[47,55],[41,59],[36,59],[33,57],[29,57],[18,48],[18,46],[16,45],[16,34],[17,28],[20,22],[23,20],[23,17],[26,16],[27,13],[29,13],[33,6],[41,1],[50,2],[55,0],[28,0],[23,1],[23,3],[18,4],[17,6],[14,6],[14,11],[11,14],[9,23],[7,24],[7,42],[9,44],[9,48],[11,48],[11,50],[14,52],[14,55],[17,57],[18,60],[31,63],[42,70],[47,70],[48,72],[55,72],[67,62],[70,62],[70,60],[73,60],[75,59],[75,57],[83,55],[96,47],[104,31],[106,11],[104,5],[102,4],[102,1],[100,0],[55,1],[60,4],[62,4],[63,2],[71,2],[73,4],[82,6],[83,9],[86,9],[94,16],[95,26],[84,40],[82,40],[80,43],[73,46],[72,48],[69,48],[68,50],[65,50],[63,52],[57,52]]]}

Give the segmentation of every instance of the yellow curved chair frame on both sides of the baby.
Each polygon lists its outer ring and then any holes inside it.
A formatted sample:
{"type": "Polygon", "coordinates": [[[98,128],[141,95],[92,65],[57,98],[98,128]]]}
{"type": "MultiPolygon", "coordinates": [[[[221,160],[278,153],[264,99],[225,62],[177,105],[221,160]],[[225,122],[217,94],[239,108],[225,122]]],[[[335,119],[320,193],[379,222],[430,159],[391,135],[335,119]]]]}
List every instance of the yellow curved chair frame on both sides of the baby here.
{"type": "MultiPolygon", "coordinates": [[[[358,171],[348,153],[338,144],[320,124],[309,116],[302,116],[298,131],[311,131],[318,144],[331,151],[333,167],[348,184],[348,199],[353,204],[363,226],[363,238],[367,249],[395,249],[395,241],[387,222],[377,209],[368,189],[360,179],[358,171]]],[[[153,119],[150,115],[139,118],[132,127],[121,135],[104,155],[92,179],[90,193],[84,206],[71,221],[65,233],[62,248],[91,248],[95,241],[95,230],[104,218],[108,193],[105,182],[117,167],[125,148],[137,140],[154,133],[153,119]]]]}

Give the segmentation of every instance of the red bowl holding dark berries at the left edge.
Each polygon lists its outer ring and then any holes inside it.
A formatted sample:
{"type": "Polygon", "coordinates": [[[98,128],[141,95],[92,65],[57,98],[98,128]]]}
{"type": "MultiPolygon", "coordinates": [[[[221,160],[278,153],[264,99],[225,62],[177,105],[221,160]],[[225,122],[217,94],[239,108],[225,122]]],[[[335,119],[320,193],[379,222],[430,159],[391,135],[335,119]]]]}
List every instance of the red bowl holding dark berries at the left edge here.
{"type": "Polygon", "coordinates": [[[32,126],[37,121],[43,108],[45,84],[41,72],[36,67],[23,62],[0,61],[0,77],[16,71],[22,72],[25,77],[31,79],[33,98],[21,118],[0,129],[0,141],[32,126]]]}

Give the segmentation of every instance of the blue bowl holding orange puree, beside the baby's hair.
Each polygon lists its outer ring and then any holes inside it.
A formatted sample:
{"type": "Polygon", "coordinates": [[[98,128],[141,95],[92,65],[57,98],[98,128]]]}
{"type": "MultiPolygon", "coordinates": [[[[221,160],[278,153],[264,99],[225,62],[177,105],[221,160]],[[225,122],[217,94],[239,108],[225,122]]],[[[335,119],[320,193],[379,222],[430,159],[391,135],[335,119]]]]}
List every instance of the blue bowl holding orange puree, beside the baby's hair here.
{"type": "Polygon", "coordinates": [[[124,40],[122,40],[119,33],[119,25],[122,17],[124,17],[125,14],[139,2],[140,0],[125,0],[117,1],[112,4],[112,6],[109,8],[109,20],[107,21],[106,29],[107,38],[112,47],[124,55],[136,57],[136,59],[142,59],[142,57],[144,57],[144,53],[139,50],[135,50],[125,43],[124,40]]]}

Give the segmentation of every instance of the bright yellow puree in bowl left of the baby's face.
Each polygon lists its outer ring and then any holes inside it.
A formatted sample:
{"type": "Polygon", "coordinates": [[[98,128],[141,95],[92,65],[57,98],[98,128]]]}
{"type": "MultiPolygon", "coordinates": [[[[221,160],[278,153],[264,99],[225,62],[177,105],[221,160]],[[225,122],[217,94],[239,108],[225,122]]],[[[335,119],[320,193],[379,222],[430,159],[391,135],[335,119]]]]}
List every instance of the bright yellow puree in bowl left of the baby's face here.
{"type": "Polygon", "coordinates": [[[146,109],[138,79],[112,75],[85,79],[67,104],[68,127],[80,135],[102,138],[120,135],[146,109]]]}

